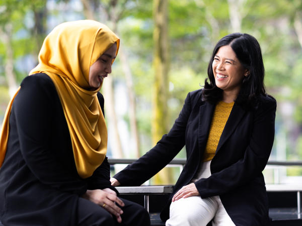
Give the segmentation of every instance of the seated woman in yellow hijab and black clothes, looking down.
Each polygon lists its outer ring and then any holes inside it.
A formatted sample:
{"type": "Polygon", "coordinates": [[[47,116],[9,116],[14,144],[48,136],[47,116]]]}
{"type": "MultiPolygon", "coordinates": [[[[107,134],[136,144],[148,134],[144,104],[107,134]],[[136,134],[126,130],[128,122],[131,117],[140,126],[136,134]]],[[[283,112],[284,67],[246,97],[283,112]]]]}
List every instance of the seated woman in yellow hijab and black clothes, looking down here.
{"type": "Polygon", "coordinates": [[[149,225],[117,197],[106,157],[104,98],[119,38],[91,20],[58,25],[7,108],[0,137],[5,225],[149,225]]]}

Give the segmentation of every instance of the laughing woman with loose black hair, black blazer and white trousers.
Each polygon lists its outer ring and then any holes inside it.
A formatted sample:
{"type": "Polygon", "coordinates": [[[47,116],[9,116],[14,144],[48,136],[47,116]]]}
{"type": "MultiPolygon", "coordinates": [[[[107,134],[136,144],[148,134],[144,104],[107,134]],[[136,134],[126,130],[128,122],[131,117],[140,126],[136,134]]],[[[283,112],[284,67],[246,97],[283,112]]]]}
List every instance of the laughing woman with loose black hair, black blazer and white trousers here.
{"type": "Polygon", "coordinates": [[[274,140],[258,41],[234,33],[216,44],[204,88],[188,94],[170,132],[111,178],[140,185],[186,146],[187,163],[161,213],[166,225],[269,225],[263,169],[274,140]],[[170,214],[169,214],[170,206],[170,214]]]}

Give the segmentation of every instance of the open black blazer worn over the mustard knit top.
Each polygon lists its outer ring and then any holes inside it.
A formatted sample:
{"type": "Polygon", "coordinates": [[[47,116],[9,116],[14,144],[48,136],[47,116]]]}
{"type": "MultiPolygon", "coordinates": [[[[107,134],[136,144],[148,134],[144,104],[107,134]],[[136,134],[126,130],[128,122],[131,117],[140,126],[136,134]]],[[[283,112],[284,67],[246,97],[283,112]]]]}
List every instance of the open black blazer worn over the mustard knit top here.
{"type": "MultiPolygon", "coordinates": [[[[117,173],[122,186],[140,185],[165,167],[186,146],[187,163],[161,213],[169,218],[171,198],[194,177],[206,146],[215,105],[190,92],[170,132],[137,161],[117,173]]],[[[276,101],[260,96],[257,108],[234,104],[211,161],[212,175],[195,182],[202,198],[219,195],[236,225],[268,225],[268,200],[262,171],[274,140],[276,101]]]]}

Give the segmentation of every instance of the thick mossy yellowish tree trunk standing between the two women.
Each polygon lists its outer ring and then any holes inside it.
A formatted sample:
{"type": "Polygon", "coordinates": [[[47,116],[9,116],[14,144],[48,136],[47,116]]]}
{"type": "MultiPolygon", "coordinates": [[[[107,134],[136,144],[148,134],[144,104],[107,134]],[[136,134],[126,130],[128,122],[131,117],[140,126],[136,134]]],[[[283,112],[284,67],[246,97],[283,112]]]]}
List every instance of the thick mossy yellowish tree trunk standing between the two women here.
{"type": "MultiPolygon", "coordinates": [[[[168,0],[154,0],[154,72],[152,139],[155,145],[168,132],[168,0]]],[[[154,177],[155,184],[171,184],[172,169],[164,168],[154,177]]]]}

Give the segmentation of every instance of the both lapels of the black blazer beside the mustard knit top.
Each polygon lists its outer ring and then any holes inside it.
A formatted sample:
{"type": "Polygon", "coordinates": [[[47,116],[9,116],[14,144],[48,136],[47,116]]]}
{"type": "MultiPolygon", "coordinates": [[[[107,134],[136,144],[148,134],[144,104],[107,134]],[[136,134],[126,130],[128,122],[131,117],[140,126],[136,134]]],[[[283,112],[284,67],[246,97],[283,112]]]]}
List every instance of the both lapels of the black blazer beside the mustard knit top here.
{"type": "MultiPolygon", "coordinates": [[[[199,127],[198,127],[199,147],[205,147],[206,145],[214,110],[215,110],[215,105],[209,102],[203,102],[203,104],[199,107],[199,127]]],[[[242,117],[244,116],[245,112],[246,112],[245,109],[237,105],[236,102],[234,103],[229,119],[228,121],[226,121],[224,129],[222,131],[216,149],[216,153],[219,151],[219,149],[224,144],[224,142],[228,140],[228,138],[231,136],[233,131],[236,129],[242,117]]]]}

